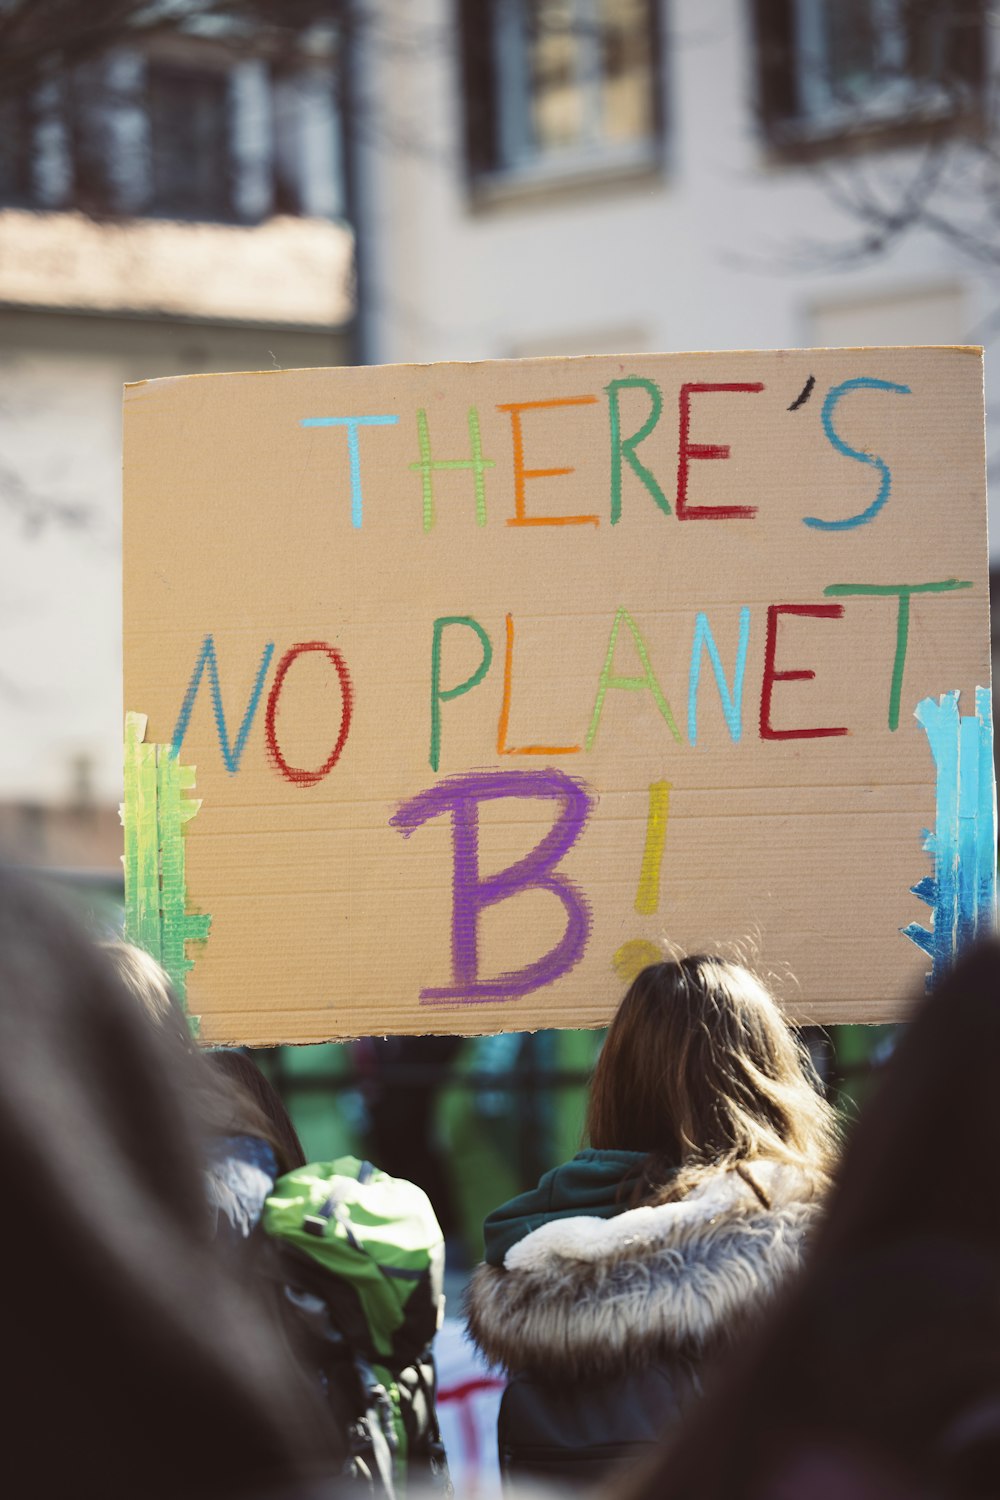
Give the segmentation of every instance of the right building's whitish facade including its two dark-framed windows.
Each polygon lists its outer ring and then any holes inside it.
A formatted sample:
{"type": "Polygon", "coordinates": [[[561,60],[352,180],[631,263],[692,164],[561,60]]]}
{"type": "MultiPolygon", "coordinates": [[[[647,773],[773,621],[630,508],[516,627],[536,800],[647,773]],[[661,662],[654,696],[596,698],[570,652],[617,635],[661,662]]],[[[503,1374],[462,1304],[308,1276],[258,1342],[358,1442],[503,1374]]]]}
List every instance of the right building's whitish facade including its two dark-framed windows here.
{"type": "Polygon", "coordinates": [[[993,354],[1000,237],[994,267],[919,225],[858,254],[874,246],[865,192],[892,201],[979,120],[982,6],[412,0],[408,15],[409,50],[366,56],[381,110],[360,174],[367,358],[993,354]]]}

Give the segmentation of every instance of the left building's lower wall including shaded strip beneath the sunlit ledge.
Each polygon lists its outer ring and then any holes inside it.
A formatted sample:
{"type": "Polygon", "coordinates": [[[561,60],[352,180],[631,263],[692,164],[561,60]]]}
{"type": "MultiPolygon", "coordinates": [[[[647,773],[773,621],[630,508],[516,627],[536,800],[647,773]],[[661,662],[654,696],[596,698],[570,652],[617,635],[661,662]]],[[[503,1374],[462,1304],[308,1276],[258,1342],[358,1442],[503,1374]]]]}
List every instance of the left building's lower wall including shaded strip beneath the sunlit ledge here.
{"type": "Polygon", "coordinates": [[[333,333],[0,314],[0,801],[121,796],[121,387],[343,363],[333,333]],[[25,516],[79,507],[79,526],[25,516]]]}

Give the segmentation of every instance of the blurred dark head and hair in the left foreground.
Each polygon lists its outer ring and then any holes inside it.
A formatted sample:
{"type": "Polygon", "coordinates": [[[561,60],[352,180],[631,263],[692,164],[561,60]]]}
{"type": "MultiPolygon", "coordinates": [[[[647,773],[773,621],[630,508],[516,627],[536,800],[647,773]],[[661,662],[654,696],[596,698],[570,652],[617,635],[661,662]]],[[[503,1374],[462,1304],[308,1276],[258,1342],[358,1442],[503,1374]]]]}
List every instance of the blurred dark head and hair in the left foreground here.
{"type": "Polygon", "coordinates": [[[19,1494],[292,1494],[297,1372],[210,1240],[187,1054],[105,954],[0,872],[4,1422],[19,1494]]]}

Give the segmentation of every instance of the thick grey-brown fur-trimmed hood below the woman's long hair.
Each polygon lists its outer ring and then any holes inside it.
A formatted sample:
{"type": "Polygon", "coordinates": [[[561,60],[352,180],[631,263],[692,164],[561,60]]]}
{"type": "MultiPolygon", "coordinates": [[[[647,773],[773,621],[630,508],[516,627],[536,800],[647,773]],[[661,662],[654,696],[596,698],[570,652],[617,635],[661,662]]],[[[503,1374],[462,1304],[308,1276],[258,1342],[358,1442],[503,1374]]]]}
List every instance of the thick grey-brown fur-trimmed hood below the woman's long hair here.
{"type": "Polygon", "coordinates": [[[472,1276],[472,1340],[510,1372],[571,1378],[724,1341],[798,1269],[820,1206],[793,1167],[744,1173],[759,1192],[718,1170],[676,1203],[543,1224],[472,1276]]]}

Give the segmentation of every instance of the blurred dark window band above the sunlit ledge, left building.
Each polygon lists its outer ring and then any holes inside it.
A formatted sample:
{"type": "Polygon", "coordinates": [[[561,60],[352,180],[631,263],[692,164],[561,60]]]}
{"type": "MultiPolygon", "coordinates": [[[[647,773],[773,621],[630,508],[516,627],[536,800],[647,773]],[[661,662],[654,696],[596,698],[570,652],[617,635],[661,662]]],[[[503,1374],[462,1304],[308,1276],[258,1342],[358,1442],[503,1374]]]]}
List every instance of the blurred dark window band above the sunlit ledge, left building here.
{"type": "Polygon", "coordinates": [[[256,224],[337,218],[333,66],[115,50],[0,100],[0,206],[256,224]]]}

